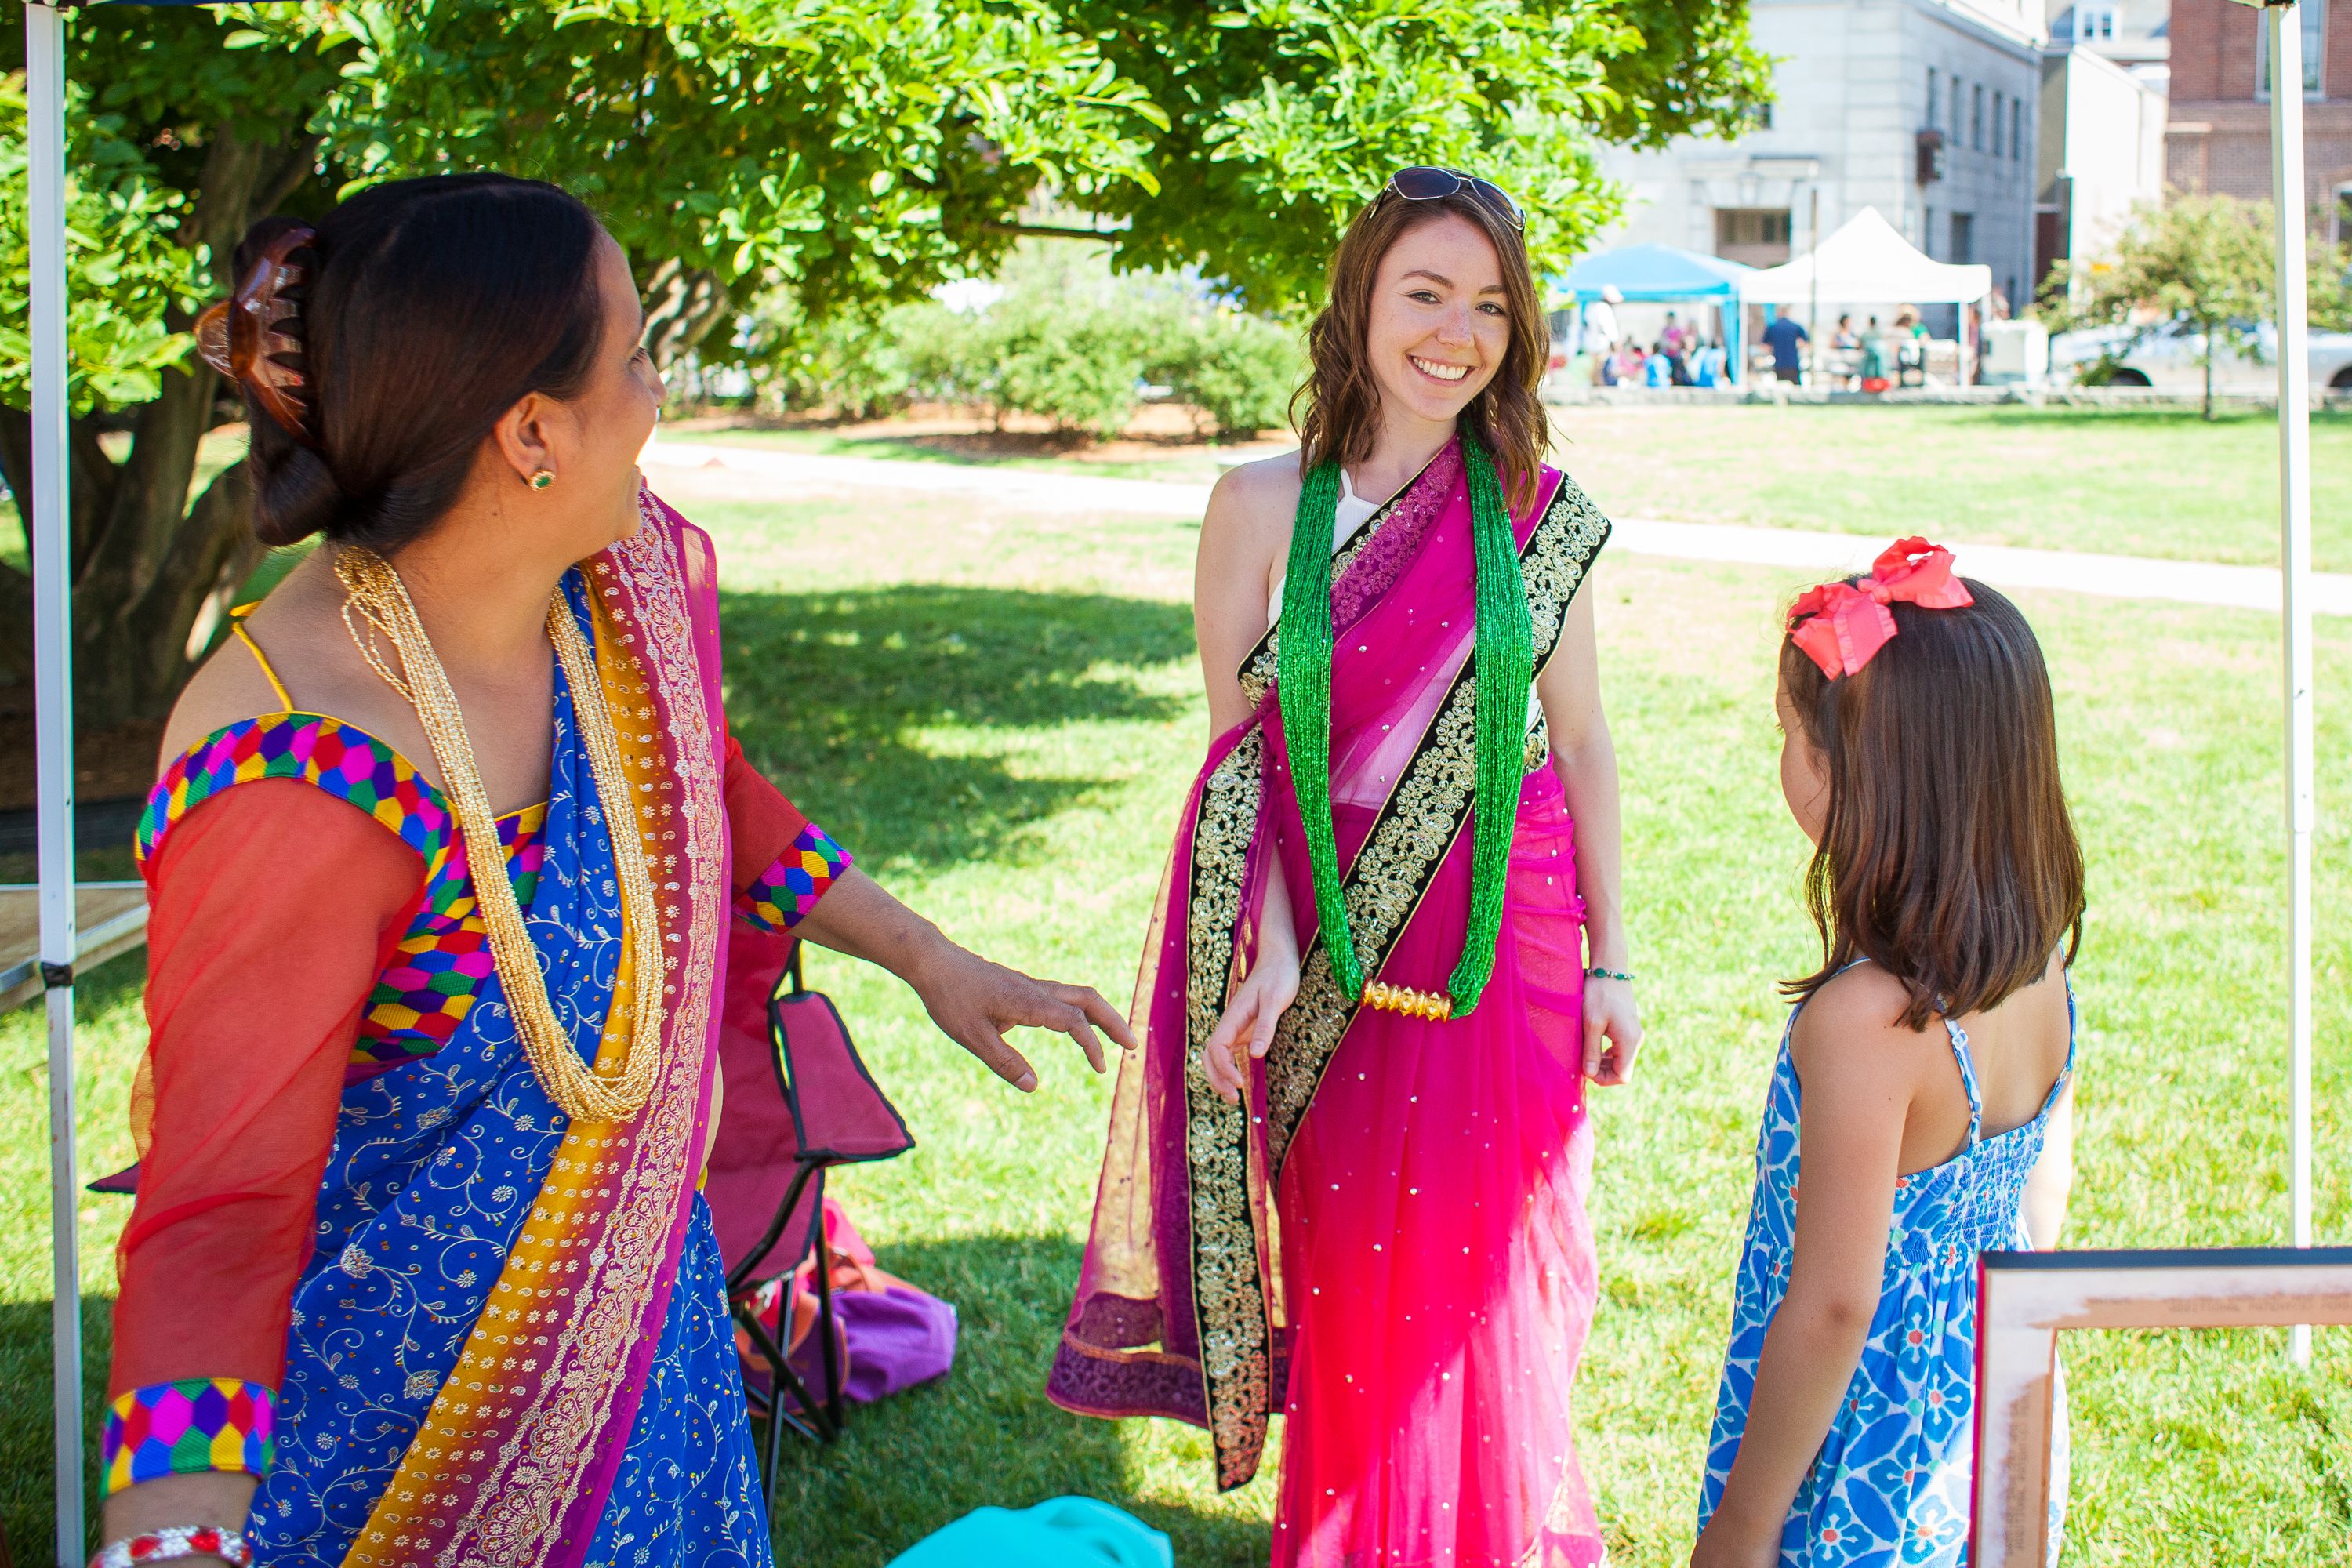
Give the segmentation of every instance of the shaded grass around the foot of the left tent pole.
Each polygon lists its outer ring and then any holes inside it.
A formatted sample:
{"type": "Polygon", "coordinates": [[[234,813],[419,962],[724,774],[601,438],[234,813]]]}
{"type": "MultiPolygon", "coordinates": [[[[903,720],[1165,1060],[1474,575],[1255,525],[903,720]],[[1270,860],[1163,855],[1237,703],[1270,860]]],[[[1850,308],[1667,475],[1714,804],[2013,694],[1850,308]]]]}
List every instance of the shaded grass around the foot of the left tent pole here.
{"type": "MultiPolygon", "coordinates": [[[[106,1406],[106,1359],[113,1349],[111,1295],[82,1298],[82,1516],[99,1516],[99,1420],[106,1406]]],[[[49,1302],[0,1307],[0,1528],[16,1568],[56,1559],[56,1380],[49,1375],[49,1302]]],[[[85,1542],[71,1568],[87,1561],[85,1542]]]]}

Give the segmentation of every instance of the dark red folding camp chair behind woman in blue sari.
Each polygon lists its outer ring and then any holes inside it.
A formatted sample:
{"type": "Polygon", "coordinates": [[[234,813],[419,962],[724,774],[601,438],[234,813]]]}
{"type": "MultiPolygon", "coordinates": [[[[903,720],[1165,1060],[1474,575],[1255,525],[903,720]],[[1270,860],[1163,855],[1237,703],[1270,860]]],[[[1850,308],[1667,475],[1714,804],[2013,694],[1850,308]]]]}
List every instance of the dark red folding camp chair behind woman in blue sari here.
{"type": "Polygon", "coordinates": [[[802,983],[800,943],[788,936],[734,933],[720,1072],[727,1105],[703,1199],[727,1262],[727,1302],[750,1340],[755,1366],[746,1366],[743,1392],[753,1415],[767,1420],[764,1479],[774,1493],[786,1427],[818,1443],[842,1432],[847,1368],[823,1225],[826,1171],[891,1159],[915,1140],[866,1072],[833,1001],[802,983]],[[793,1276],[811,1253],[821,1389],[809,1389],[790,1361],[793,1276]],[[757,1300],[769,1284],[776,1328],[757,1300]]]}

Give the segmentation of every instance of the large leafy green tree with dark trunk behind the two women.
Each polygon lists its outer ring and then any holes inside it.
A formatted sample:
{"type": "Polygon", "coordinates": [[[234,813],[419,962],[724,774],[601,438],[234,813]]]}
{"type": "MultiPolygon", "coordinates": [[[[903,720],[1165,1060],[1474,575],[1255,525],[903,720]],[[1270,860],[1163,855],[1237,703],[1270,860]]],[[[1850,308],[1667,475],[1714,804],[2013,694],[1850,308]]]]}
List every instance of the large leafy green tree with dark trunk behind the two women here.
{"type": "MultiPolygon", "coordinates": [[[[16,7],[0,59],[21,59],[16,7]]],[[[715,329],[762,294],[870,320],[988,275],[1037,193],[1108,219],[1122,268],[1200,266],[1294,308],[1390,167],[1463,162],[1526,200],[1552,263],[1616,212],[1597,136],[1736,125],[1762,85],[1745,0],[94,7],[73,16],[71,73],[92,85],[71,200],[94,719],[162,710],[254,564],[242,465],[191,498],[198,440],[233,404],[186,327],[266,212],[435,169],[553,179],[630,252],[656,355],[720,362],[739,346],[715,329]],[[103,430],[132,437],[127,458],[103,430]]],[[[21,92],[0,113],[0,160],[21,160],[21,92]]],[[[12,200],[0,247],[21,254],[12,200]]],[[[0,339],[0,473],[19,494],[21,388],[24,339],[0,339]]],[[[1080,423],[1110,400],[1105,381],[1080,423]]],[[[26,602],[0,571],[0,679],[28,670],[26,602]]]]}

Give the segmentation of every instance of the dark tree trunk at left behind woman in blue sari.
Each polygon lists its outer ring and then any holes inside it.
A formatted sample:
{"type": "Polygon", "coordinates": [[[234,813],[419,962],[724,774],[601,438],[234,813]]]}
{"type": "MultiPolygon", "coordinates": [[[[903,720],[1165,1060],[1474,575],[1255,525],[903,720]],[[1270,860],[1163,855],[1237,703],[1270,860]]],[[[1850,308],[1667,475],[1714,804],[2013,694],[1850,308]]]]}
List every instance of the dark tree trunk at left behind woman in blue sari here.
{"type": "MultiPolygon", "coordinates": [[[[238,240],[313,172],[318,141],[299,134],[299,125],[292,120],[270,139],[240,136],[226,125],[212,134],[183,240],[212,247],[214,282],[223,294],[233,282],[238,240]]],[[[80,726],[103,729],[169,710],[219,609],[261,562],[242,463],[188,505],[198,442],[214,425],[219,381],[193,353],[183,369],[165,371],[155,402],[129,416],[132,447],[120,463],[106,456],[94,421],[73,421],[68,484],[80,726]],[[205,637],[191,635],[195,630],[205,637]]],[[[31,496],[31,416],[14,409],[0,418],[0,470],[12,494],[31,496]]],[[[31,552],[31,508],[19,510],[26,512],[31,552]]],[[[26,679],[31,670],[31,581],[0,569],[0,679],[26,679]]]]}

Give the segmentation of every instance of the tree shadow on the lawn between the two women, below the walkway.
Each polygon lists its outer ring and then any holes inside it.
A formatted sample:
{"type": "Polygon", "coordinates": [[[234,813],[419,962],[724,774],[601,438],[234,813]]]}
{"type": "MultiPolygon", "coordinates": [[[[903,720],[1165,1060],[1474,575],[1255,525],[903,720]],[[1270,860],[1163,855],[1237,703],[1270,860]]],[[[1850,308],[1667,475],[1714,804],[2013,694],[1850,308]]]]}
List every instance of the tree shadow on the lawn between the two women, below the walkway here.
{"type": "Polygon", "coordinates": [[[985,731],[1164,722],[1136,675],[1192,654],[1181,604],[1007,588],[729,592],[727,712],[746,755],[873,865],[988,860],[1110,778],[1030,778],[985,731]],[[983,731],[969,752],[915,731],[983,731]]]}

